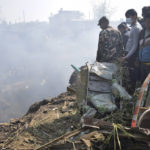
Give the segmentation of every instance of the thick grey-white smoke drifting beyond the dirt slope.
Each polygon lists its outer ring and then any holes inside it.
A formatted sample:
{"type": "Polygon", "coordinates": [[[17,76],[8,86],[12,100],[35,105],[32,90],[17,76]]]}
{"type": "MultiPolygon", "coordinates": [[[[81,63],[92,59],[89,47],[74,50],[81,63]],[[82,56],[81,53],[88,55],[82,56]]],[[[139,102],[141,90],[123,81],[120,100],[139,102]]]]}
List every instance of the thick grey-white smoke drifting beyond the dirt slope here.
{"type": "Polygon", "coordinates": [[[78,12],[61,13],[61,20],[56,15],[49,23],[0,24],[1,122],[20,117],[35,101],[66,91],[70,65],[95,60],[96,22],[83,20],[80,13],[74,19],[78,12]]]}

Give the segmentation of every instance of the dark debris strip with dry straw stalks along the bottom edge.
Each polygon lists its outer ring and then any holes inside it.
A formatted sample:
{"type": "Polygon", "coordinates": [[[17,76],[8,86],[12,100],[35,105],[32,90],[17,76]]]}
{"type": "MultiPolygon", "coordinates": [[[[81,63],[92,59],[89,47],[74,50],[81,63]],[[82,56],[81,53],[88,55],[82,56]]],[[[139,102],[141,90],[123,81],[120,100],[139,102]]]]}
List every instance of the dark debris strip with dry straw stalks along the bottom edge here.
{"type": "Polygon", "coordinates": [[[145,136],[145,132],[116,124],[107,130],[86,128],[63,135],[38,150],[148,150],[150,137],[145,136]]]}

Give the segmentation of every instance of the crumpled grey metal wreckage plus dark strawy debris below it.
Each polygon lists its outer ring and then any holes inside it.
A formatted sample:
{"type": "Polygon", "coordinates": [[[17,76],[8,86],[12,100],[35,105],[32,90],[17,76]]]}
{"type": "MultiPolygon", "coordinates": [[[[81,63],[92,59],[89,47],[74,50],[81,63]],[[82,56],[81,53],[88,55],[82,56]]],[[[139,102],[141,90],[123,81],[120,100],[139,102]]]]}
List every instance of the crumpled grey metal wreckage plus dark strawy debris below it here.
{"type": "MultiPolygon", "coordinates": [[[[100,70],[92,65],[93,68],[89,69],[90,65],[87,65],[87,69],[81,70],[81,84],[78,86],[82,90],[76,90],[79,108],[83,110],[80,133],[69,139],[66,137],[64,141],[58,141],[49,148],[148,150],[148,129],[130,129],[118,124],[130,126],[134,101],[130,105],[132,97],[118,84],[117,78],[114,78],[117,69],[110,71],[108,66],[111,64],[98,65],[100,70]],[[122,106],[117,108],[115,101],[118,99],[122,106]]],[[[115,65],[113,67],[117,68],[115,65]]]]}

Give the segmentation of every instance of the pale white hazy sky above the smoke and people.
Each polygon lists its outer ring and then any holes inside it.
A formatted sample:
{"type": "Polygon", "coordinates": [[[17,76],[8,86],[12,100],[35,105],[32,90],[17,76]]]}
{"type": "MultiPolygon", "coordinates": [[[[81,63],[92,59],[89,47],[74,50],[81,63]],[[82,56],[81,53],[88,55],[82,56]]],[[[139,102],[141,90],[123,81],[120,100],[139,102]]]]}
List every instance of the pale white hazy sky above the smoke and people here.
{"type": "MultiPolygon", "coordinates": [[[[0,0],[2,19],[6,21],[48,21],[51,13],[55,14],[60,8],[65,10],[80,10],[86,16],[92,16],[93,6],[103,0],[0,0]]],[[[141,15],[141,8],[150,5],[150,0],[107,0],[109,7],[114,10],[112,20],[124,18],[124,12],[135,8],[141,15]]]]}

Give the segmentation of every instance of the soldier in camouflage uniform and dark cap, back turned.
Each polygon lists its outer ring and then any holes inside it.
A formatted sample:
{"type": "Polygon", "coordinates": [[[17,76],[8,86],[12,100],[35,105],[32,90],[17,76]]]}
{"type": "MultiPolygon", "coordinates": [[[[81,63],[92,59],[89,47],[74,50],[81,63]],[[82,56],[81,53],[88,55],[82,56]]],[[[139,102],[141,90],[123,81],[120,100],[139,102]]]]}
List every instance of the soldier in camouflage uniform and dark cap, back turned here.
{"type": "Polygon", "coordinates": [[[96,61],[116,62],[120,56],[123,56],[121,33],[109,26],[109,20],[106,17],[102,17],[98,25],[102,31],[99,34],[96,61]]]}

